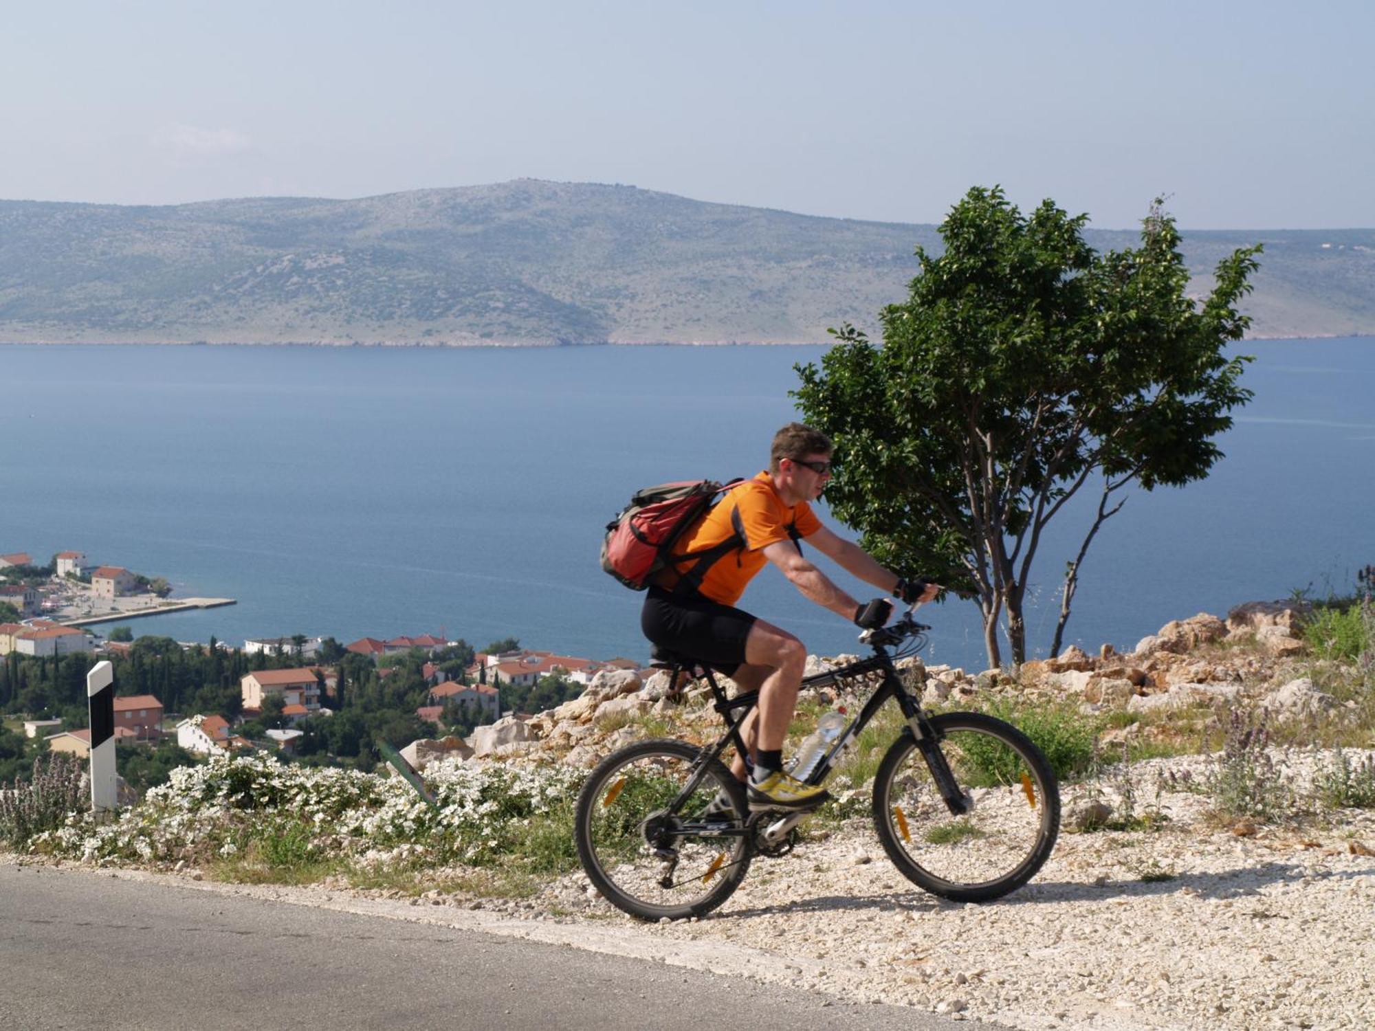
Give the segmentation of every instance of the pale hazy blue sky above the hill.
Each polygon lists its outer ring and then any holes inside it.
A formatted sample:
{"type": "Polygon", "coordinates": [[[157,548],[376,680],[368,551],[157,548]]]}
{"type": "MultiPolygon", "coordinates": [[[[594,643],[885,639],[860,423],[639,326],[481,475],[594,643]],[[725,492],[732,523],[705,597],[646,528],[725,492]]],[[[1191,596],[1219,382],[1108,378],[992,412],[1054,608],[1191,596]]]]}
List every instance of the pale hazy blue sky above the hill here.
{"type": "Polygon", "coordinates": [[[7,5],[0,198],[363,197],[520,176],[938,221],[1375,225],[1375,4],[7,5]]]}

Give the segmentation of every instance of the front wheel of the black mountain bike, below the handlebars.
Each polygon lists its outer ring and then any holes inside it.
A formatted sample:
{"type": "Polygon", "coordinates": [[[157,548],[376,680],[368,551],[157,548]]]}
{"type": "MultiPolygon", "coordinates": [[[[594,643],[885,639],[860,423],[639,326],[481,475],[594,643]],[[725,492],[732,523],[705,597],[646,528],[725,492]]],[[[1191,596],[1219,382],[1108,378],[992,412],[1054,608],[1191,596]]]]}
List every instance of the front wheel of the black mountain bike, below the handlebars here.
{"type": "Polygon", "coordinates": [[[910,731],[888,749],[873,782],[873,817],[902,874],[945,899],[986,902],[1020,888],[1050,855],[1060,792],[1050,764],[1016,727],[979,712],[931,719],[967,811],[936,789],[910,731]]]}

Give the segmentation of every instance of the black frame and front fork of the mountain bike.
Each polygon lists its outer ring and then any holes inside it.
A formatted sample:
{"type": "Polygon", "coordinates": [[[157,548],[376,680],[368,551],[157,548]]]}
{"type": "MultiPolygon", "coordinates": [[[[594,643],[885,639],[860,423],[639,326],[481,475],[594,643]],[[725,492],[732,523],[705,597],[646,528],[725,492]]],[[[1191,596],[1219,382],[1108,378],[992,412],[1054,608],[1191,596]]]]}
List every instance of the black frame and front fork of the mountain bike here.
{"type": "MultiPolygon", "coordinates": [[[[883,682],[879,685],[879,689],[869,696],[869,701],[864,704],[859,715],[855,716],[848,726],[846,726],[840,737],[835,740],[830,751],[828,751],[825,756],[822,756],[821,762],[817,763],[817,767],[807,775],[806,782],[818,785],[822,784],[826,777],[830,775],[832,764],[846,745],[850,744],[852,738],[858,737],[866,726],[869,726],[869,722],[890,698],[896,698],[898,705],[902,709],[902,716],[908,722],[906,733],[912,734],[916,741],[917,749],[921,752],[921,757],[925,760],[927,768],[931,771],[931,778],[935,781],[936,790],[940,792],[940,797],[945,800],[946,808],[949,808],[956,817],[964,815],[969,810],[969,800],[956,784],[954,774],[950,773],[950,764],[946,762],[945,753],[940,751],[940,733],[932,726],[931,718],[927,716],[925,711],[921,708],[920,698],[903,687],[902,679],[898,676],[898,671],[892,665],[892,656],[890,656],[888,652],[880,645],[874,645],[873,650],[874,654],[870,658],[861,658],[859,661],[851,663],[850,665],[839,669],[828,669],[826,672],[803,678],[802,690],[814,690],[818,687],[830,687],[832,685],[836,685],[840,680],[847,680],[852,676],[883,672],[883,682]]],[[[715,708],[716,712],[720,713],[720,718],[726,722],[726,733],[722,734],[715,744],[701,751],[697,760],[693,763],[688,784],[683,785],[682,792],[668,806],[667,811],[670,814],[675,814],[688,801],[688,799],[692,797],[692,793],[697,790],[697,786],[707,775],[707,764],[712,759],[719,759],[729,745],[734,744],[740,755],[749,755],[745,738],[740,733],[740,724],[745,722],[749,711],[759,704],[759,691],[745,691],[734,698],[727,698],[726,691],[722,690],[719,683],[716,683],[716,678],[710,667],[689,668],[682,664],[675,664],[668,667],[668,669],[670,685],[676,685],[681,674],[689,674],[693,679],[698,679],[698,676],[705,678],[707,683],[711,686],[712,697],[716,701],[712,708],[715,708]],[[732,713],[737,709],[742,711],[738,718],[733,719],[732,713]]],[[[740,837],[749,833],[745,828],[725,828],[718,823],[704,823],[701,828],[693,826],[690,829],[703,837],[740,837]]]]}

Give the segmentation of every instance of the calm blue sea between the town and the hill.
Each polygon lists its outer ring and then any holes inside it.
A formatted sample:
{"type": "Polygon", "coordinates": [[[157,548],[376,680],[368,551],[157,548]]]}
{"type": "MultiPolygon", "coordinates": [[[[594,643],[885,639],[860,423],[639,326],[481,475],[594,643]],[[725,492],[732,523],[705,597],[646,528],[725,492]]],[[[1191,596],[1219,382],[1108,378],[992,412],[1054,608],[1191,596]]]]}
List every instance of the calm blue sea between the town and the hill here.
{"type": "MultiPolygon", "coordinates": [[[[1350,592],[1375,562],[1375,340],[1235,351],[1255,359],[1255,396],[1225,458],[1200,483],[1128,496],[1084,562],[1067,643],[1130,649],[1198,612],[1350,592]]],[[[0,554],[77,550],[165,576],[175,597],[238,601],[129,621],[140,635],[516,636],[642,660],[641,595],[598,566],[606,521],[642,485],[763,469],[798,418],[796,366],[824,352],[6,345],[0,554]]],[[[1090,518],[1085,498],[1041,546],[1033,654],[1090,518]]],[[[773,569],[741,603],[810,652],[859,650],[773,569]]],[[[972,602],[923,613],[928,661],[984,668],[972,602]]]]}

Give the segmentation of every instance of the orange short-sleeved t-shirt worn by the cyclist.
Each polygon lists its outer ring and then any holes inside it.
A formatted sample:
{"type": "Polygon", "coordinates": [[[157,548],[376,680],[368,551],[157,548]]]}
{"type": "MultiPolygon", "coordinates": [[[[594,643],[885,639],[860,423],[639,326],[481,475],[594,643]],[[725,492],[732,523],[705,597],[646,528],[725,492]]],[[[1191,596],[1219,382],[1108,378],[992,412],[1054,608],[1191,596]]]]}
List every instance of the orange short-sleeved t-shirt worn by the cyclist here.
{"type": "MultiPolygon", "coordinates": [[[[763,548],[778,540],[788,540],[791,536],[788,533],[789,525],[796,528],[799,537],[810,537],[821,529],[821,520],[815,517],[807,502],[784,505],[773,485],[773,477],[763,472],[754,480],[745,480],[732,487],[726,496],[703,517],[701,522],[678,539],[672,554],[686,555],[690,551],[705,551],[740,533],[745,542],[744,547],[727,551],[718,558],[697,588],[704,598],[711,598],[722,605],[734,605],[745,592],[745,587],[755,573],[763,569],[769,561],[764,558],[763,548]]],[[[678,573],[689,572],[692,568],[692,559],[671,566],[678,573]]],[[[672,588],[678,583],[678,573],[666,573],[661,577],[661,586],[672,588]]]]}

